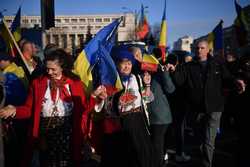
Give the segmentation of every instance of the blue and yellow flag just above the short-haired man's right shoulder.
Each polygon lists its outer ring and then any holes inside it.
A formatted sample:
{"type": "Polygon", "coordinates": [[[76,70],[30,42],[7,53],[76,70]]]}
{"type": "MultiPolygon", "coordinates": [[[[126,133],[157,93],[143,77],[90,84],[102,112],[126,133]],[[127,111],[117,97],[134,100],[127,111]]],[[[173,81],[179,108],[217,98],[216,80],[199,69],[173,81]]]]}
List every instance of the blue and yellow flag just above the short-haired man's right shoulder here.
{"type": "Polygon", "coordinates": [[[215,53],[223,53],[223,20],[208,34],[209,49],[215,53]]]}

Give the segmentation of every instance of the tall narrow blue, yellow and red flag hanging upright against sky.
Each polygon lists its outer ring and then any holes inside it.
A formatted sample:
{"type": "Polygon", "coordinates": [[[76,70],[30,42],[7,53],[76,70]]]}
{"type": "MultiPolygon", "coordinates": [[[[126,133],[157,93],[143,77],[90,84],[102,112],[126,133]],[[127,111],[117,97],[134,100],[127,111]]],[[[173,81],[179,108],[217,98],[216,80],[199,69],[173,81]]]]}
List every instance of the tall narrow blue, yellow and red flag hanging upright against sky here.
{"type": "Polygon", "coordinates": [[[166,21],[166,0],[163,10],[162,22],[161,22],[161,33],[159,40],[159,48],[162,53],[162,61],[163,63],[166,61],[166,48],[167,48],[167,21],[166,21]]]}

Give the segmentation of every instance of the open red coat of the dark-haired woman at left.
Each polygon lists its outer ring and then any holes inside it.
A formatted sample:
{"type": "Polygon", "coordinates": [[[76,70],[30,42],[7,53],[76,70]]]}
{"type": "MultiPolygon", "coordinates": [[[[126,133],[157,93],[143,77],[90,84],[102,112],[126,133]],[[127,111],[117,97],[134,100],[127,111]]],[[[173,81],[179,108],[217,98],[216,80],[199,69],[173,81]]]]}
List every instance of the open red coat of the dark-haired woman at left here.
{"type": "MultiPolygon", "coordinates": [[[[40,113],[42,108],[43,98],[47,89],[48,78],[46,76],[39,77],[33,80],[29,87],[27,100],[23,106],[16,109],[16,118],[31,118],[31,133],[28,138],[28,147],[24,162],[30,161],[32,157],[32,148],[35,139],[39,138],[40,113]]],[[[73,133],[72,133],[72,154],[74,166],[80,165],[81,160],[81,145],[84,141],[84,135],[87,134],[87,117],[89,111],[94,107],[95,101],[90,98],[87,101],[84,86],[80,80],[69,80],[69,87],[74,103],[73,108],[73,133]]],[[[27,166],[27,164],[23,164],[27,166]]]]}

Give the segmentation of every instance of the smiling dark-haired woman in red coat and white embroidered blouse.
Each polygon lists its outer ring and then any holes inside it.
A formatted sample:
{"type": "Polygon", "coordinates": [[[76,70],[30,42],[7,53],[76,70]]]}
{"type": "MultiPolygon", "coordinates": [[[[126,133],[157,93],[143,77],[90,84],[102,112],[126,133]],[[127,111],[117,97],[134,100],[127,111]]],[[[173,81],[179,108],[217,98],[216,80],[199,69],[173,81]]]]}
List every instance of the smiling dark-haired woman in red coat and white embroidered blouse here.
{"type": "Polygon", "coordinates": [[[62,49],[50,52],[45,58],[47,73],[33,80],[26,103],[0,110],[0,118],[32,119],[26,158],[38,142],[40,166],[80,166],[88,111],[95,105],[94,97],[106,98],[105,88],[99,86],[87,101],[68,59],[62,49]]]}

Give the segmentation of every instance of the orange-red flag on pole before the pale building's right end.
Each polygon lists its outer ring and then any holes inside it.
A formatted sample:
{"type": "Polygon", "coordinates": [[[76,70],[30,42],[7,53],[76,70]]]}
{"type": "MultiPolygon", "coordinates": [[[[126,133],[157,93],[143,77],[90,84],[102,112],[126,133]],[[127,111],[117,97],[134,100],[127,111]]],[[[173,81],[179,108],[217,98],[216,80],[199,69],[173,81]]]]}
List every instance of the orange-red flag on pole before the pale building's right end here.
{"type": "Polygon", "coordinates": [[[149,32],[149,24],[148,24],[148,21],[147,21],[145,14],[144,14],[144,7],[142,5],[141,6],[141,18],[139,21],[138,28],[136,30],[137,39],[139,39],[139,40],[144,39],[146,37],[146,35],[148,34],[148,32],[149,32]]]}

